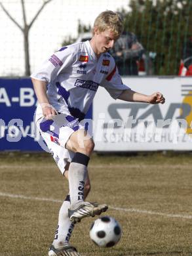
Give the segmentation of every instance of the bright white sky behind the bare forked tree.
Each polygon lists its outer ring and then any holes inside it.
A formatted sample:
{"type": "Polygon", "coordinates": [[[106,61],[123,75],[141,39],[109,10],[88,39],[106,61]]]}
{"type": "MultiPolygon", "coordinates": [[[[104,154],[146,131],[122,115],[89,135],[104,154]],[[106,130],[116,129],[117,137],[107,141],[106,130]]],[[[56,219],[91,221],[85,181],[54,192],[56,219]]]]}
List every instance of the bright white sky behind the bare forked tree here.
{"type": "MultiPolygon", "coordinates": [[[[60,49],[62,41],[71,35],[77,37],[77,24],[93,25],[102,11],[128,10],[129,0],[52,0],[35,20],[29,32],[31,72],[45,58],[60,49]]],[[[11,16],[23,25],[20,0],[2,0],[11,16]]],[[[41,7],[43,0],[26,0],[28,24],[41,7]]],[[[0,7],[0,76],[24,75],[24,40],[22,32],[0,7]]]]}

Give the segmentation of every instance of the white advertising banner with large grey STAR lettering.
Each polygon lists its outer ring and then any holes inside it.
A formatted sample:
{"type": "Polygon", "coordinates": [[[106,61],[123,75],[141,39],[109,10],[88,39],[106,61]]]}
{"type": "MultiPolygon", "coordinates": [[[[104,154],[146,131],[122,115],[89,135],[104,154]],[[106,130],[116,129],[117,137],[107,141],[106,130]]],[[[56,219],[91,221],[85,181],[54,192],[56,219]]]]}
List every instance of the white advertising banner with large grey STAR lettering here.
{"type": "Polygon", "coordinates": [[[133,91],[160,91],[166,102],[114,100],[100,87],[93,103],[94,150],[192,150],[192,77],[122,78],[133,91]]]}

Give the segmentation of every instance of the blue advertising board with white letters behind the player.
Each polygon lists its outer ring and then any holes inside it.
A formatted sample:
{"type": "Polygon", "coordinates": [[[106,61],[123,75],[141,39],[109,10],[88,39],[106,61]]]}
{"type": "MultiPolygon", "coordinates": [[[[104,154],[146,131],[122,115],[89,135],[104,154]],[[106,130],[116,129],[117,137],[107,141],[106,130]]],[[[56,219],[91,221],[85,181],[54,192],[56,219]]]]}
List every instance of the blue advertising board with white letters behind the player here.
{"type": "MultiPolygon", "coordinates": [[[[47,150],[35,129],[36,106],[30,78],[0,79],[0,151],[47,150]]],[[[92,118],[92,108],[86,118],[92,118]]]]}

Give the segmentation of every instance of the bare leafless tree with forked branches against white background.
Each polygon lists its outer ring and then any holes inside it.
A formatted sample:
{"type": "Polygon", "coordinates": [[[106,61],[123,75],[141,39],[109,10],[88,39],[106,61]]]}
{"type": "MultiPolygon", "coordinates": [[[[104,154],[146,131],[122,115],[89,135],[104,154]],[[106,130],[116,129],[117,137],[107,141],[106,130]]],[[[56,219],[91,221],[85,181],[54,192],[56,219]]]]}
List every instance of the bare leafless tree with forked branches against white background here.
{"type": "Polygon", "coordinates": [[[37,19],[37,17],[39,16],[39,14],[41,13],[41,11],[43,11],[45,5],[50,3],[50,1],[52,1],[52,0],[43,1],[43,4],[41,5],[39,11],[37,11],[37,13],[35,14],[35,16],[33,17],[33,19],[31,20],[31,22],[29,24],[27,24],[27,20],[26,20],[25,1],[24,0],[20,0],[20,1],[21,1],[21,5],[22,5],[22,16],[23,16],[23,20],[24,20],[23,26],[20,26],[20,24],[18,24],[18,22],[16,22],[16,20],[14,18],[12,18],[9,11],[7,11],[7,9],[5,9],[3,3],[0,2],[0,5],[1,5],[1,8],[3,9],[3,11],[5,12],[5,14],[7,14],[7,16],[10,18],[10,20],[12,20],[12,22],[14,22],[14,24],[22,31],[22,33],[24,35],[25,75],[30,75],[31,72],[30,72],[30,58],[29,58],[29,30],[30,30],[31,26],[33,25],[33,23],[35,22],[35,20],[37,19]]]}

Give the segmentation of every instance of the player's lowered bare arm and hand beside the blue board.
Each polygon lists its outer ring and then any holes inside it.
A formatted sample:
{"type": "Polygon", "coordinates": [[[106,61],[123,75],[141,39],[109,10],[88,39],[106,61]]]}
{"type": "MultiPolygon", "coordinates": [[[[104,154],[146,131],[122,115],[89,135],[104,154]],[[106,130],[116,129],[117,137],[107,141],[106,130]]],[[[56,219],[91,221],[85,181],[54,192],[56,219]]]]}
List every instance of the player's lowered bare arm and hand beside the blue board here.
{"type": "Polygon", "coordinates": [[[31,78],[33,87],[35,90],[35,94],[37,96],[37,100],[39,104],[41,105],[43,116],[45,116],[46,119],[51,119],[52,116],[55,116],[57,113],[54,110],[54,108],[50,105],[48,102],[47,97],[47,82],[37,80],[34,78],[31,78]]]}

